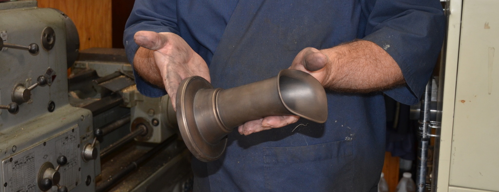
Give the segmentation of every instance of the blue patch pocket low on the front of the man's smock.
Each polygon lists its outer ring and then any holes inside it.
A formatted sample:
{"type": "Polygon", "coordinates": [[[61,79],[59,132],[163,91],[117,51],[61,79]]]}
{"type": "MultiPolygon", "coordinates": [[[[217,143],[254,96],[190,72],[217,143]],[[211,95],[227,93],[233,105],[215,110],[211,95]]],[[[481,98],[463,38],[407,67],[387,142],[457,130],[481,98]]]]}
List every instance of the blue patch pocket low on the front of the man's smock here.
{"type": "Polygon", "coordinates": [[[349,192],[352,142],[263,148],[265,188],[269,191],[349,192]]]}

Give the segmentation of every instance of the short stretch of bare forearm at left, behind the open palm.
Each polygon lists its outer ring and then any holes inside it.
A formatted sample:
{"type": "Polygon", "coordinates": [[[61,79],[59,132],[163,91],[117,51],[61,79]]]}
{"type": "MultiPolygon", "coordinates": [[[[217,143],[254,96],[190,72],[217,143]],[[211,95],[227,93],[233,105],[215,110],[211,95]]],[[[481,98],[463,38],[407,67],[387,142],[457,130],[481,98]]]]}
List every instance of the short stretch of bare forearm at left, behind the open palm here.
{"type": "Polygon", "coordinates": [[[154,51],[139,47],[133,59],[133,68],[146,81],[158,86],[164,87],[163,79],[153,56],[154,51]]]}

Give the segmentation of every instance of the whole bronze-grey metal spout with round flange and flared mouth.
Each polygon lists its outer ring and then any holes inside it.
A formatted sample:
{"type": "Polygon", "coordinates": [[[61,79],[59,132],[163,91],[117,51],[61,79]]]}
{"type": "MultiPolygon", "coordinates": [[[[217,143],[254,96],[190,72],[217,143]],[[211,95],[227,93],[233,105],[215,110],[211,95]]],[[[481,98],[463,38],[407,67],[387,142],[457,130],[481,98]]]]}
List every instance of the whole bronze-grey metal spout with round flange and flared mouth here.
{"type": "Polygon", "coordinates": [[[193,76],[182,81],[177,93],[180,133],[193,155],[204,162],[220,158],[234,128],[276,115],[324,123],[324,88],[305,72],[284,69],[275,77],[226,90],[193,76]]]}

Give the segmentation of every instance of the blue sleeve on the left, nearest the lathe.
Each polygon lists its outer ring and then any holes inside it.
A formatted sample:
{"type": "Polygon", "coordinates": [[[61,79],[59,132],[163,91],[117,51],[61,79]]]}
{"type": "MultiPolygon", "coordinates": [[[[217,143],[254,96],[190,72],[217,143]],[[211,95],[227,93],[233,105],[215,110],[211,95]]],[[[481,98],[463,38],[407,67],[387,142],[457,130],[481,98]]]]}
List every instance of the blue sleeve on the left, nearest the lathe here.
{"type": "MultiPolygon", "coordinates": [[[[123,34],[128,61],[133,66],[133,58],[139,46],[133,40],[137,31],[173,32],[179,34],[175,0],[135,0],[132,13],[128,18],[123,34]]],[[[134,70],[137,90],[148,97],[166,95],[164,88],[146,82],[134,70]]]]}

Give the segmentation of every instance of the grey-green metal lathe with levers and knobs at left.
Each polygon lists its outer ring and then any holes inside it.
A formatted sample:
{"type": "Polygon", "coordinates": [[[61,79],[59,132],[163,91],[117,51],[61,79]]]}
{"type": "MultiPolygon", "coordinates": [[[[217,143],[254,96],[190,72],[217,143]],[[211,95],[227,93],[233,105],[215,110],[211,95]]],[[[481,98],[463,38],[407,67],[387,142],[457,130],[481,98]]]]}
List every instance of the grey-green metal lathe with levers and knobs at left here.
{"type": "Polygon", "coordinates": [[[63,12],[0,3],[0,82],[0,192],[191,189],[169,97],[137,92],[123,50],[80,52],[63,12]]]}

